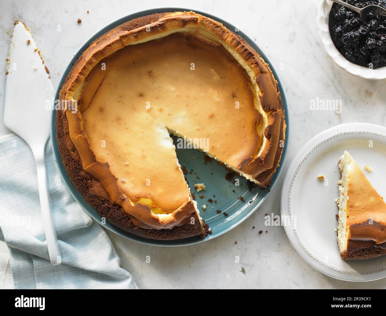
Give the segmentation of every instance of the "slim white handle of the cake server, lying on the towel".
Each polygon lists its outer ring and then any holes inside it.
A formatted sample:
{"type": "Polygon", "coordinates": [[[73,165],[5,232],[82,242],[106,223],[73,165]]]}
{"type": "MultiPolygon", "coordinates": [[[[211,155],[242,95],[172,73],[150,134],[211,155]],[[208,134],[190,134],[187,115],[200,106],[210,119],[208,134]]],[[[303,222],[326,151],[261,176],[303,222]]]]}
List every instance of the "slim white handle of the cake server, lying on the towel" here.
{"type": "Polygon", "coordinates": [[[55,225],[52,219],[51,197],[48,191],[44,147],[45,146],[38,146],[37,148],[32,149],[32,152],[36,162],[37,186],[39,188],[40,207],[42,210],[44,232],[46,233],[49,259],[52,265],[59,265],[61,264],[62,259],[58,239],[56,237],[55,225]]]}

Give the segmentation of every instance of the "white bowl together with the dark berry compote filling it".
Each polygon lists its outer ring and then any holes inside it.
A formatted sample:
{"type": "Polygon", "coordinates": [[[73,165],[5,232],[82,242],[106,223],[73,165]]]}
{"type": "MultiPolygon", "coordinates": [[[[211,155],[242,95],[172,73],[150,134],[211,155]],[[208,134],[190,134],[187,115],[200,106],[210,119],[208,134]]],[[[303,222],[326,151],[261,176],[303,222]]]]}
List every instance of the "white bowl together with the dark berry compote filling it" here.
{"type": "MultiPolygon", "coordinates": [[[[359,8],[386,0],[344,0],[359,8]]],[[[386,78],[386,15],[369,12],[364,24],[357,12],[323,0],[318,10],[319,35],[335,63],[351,74],[366,79],[386,78]]]]}

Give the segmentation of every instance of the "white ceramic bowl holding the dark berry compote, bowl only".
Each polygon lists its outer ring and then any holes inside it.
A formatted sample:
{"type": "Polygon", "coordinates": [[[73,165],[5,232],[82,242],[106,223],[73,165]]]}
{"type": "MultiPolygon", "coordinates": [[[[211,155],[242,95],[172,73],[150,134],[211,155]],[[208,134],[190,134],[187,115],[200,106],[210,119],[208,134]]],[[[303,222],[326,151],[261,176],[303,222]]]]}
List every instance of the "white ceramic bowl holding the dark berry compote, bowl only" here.
{"type": "Polygon", "coordinates": [[[343,68],[350,74],[354,74],[365,79],[385,79],[386,67],[378,69],[369,69],[366,67],[358,66],[345,59],[342,54],[340,54],[340,52],[336,49],[334,42],[330,37],[330,31],[328,29],[328,15],[330,14],[332,3],[333,2],[330,0],[322,0],[320,2],[317,14],[318,33],[320,40],[322,41],[323,47],[327,51],[327,54],[330,55],[335,64],[337,64],[340,68],[343,68]]]}

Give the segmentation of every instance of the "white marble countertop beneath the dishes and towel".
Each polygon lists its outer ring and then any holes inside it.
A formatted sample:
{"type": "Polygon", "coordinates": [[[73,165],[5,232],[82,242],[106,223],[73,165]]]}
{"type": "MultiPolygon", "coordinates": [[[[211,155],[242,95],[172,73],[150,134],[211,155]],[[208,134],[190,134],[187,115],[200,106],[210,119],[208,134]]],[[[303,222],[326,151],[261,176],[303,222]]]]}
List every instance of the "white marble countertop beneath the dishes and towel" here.
{"type": "MultiPolygon", "coordinates": [[[[385,81],[357,78],[331,61],[317,34],[319,2],[14,0],[3,3],[0,59],[7,58],[8,32],[14,20],[24,21],[42,51],[55,87],[73,54],[97,30],[124,15],[156,7],[202,10],[237,25],[264,49],[279,72],[290,108],[291,135],[284,171],[271,194],[244,223],[225,235],[197,245],[147,246],[108,232],[122,267],[132,272],[140,288],[386,288],[386,279],[354,283],[323,275],[298,255],[281,226],[269,227],[268,233],[258,234],[260,229],[266,229],[265,213],[280,214],[284,174],[306,141],[341,123],[386,124],[385,81]],[[76,22],[78,18],[81,24],[76,22]],[[61,24],[61,32],[57,31],[58,24],[61,24]],[[310,102],[316,98],[342,100],[342,113],[311,111],[310,102]],[[147,255],[152,258],[150,264],[146,263],[147,255]],[[240,257],[240,263],[235,263],[235,256],[240,257]],[[245,273],[240,272],[242,269],[245,273]]],[[[5,68],[4,61],[0,63],[0,73],[4,74],[5,68]]],[[[3,117],[4,91],[5,76],[2,75],[0,117],[3,117]]],[[[0,136],[8,132],[0,122],[0,136]]],[[[12,287],[5,245],[0,244],[0,249],[0,287],[12,287]]]]}

